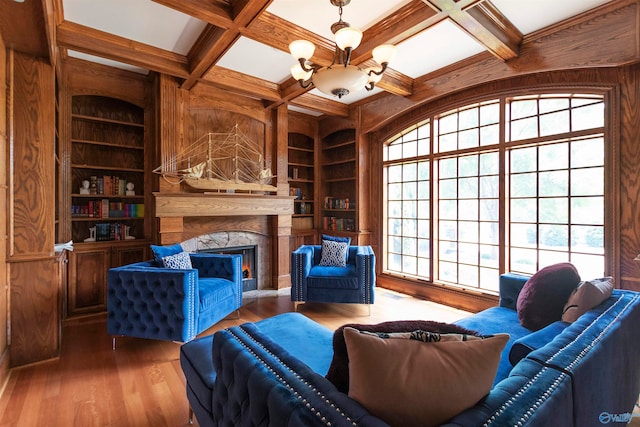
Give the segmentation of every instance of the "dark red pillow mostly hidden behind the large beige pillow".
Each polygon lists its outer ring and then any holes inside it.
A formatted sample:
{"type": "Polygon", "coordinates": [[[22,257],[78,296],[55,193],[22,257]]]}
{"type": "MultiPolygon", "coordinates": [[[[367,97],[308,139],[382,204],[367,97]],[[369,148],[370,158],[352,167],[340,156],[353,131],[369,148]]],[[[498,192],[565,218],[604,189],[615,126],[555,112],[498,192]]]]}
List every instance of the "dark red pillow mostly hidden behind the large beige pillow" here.
{"type": "Polygon", "coordinates": [[[437,332],[441,334],[468,334],[477,335],[477,332],[450,323],[435,322],[432,320],[395,320],[378,323],[375,325],[362,325],[350,323],[342,325],[333,333],[333,359],[329,366],[326,378],[343,393],[349,392],[349,356],[347,345],[344,341],[343,330],[346,327],[366,332],[412,332],[417,330],[437,332]]]}

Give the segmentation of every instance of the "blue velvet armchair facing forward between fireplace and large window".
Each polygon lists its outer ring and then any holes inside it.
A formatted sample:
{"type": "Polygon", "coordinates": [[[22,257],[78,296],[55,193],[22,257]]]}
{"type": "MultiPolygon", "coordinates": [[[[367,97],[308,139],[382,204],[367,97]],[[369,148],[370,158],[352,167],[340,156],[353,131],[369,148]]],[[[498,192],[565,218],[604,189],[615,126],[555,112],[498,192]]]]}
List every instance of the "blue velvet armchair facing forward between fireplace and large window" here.
{"type": "MultiPolygon", "coordinates": [[[[349,246],[346,267],[322,266],[322,246],[302,245],[291,253],[291,301],[373,304],[375,255],[371,246],[349,246]]],[[[371,305],[369,305],[371,308],[371,305]]]]}

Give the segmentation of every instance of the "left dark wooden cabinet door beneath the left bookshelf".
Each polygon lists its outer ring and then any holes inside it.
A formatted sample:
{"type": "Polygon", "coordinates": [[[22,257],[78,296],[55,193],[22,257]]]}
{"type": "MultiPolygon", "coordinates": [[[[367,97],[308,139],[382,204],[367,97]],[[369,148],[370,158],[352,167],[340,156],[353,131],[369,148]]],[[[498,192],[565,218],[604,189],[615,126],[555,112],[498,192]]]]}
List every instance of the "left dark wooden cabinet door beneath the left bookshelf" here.
{"type": "Polygon", "coordinates": [[[69,255],[68,315],[106,310],[111,248],[75,249],[69,255]]]}

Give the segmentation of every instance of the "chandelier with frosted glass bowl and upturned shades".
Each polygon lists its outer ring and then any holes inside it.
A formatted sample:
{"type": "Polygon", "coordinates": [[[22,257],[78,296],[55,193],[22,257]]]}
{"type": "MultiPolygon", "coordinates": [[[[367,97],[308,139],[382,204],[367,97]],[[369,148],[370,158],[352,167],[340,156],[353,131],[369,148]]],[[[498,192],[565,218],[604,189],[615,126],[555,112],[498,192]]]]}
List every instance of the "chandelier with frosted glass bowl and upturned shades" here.
{"type": "Polygon", "coordinates": [[[338,6],[340,19],[331,25],[331,32],[336,41],[336,49],[331,65],[319,67],[309,65],[307,61],[313,56],[315,46],[308,40],[294,40],[289,44],[291,55],[298,63],[291,67],[291,75],[303,88],[311,83],[322,93],[335,95],[342,98],[351,92],[366,88],[372,90],[376,83],[382,79],[382,73],[393,59],[396,48],[393,45],[380,45],[373,49],[373,60],[379,67],[360,69],[350,65],[351,52],[360,45],[362,32],[351,28],[348,22],[342,20],[342,6],[348,5],[351,0],[329,0],[332,5],[338,6]]]}

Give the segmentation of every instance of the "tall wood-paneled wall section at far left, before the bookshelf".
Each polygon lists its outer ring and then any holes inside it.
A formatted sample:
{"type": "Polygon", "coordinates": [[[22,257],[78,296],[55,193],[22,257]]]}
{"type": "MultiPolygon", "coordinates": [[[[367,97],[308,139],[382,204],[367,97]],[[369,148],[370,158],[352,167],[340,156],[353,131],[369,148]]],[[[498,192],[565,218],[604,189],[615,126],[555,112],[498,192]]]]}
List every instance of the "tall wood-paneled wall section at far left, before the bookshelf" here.
{"type": "Polygon", "coordinates": [[[11,366],[55,357],[60,289],[53,253],[55,75],[42,59],[9,51],[8,261],[11,366]]]}

